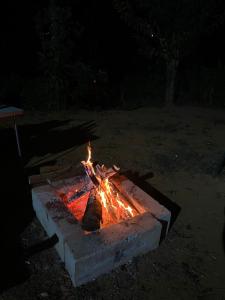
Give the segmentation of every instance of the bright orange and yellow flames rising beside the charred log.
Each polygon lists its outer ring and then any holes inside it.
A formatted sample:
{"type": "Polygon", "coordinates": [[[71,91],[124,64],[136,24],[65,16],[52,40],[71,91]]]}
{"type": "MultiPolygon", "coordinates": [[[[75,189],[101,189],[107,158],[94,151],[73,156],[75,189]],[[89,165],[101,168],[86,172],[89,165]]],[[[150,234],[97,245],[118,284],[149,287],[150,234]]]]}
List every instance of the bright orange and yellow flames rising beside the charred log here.
{"type": "MultiPolygon", "coordinates": [[[[101,176],[100,171],[95,171],[92,163],[92,150],[90,143],[87,146],[88,158],[81,163],[84,165],[87,174],[93,179],[97,179],[96,191],[97,198],[102,205],[102,226],[109,223],[118,223],[119,221],[131,218],[137,214],[126,201],[123,195],[116,190],[116,187],[110,182],[109,178],[101,176]]],[[[103,172],[104,166],[101,171],[103,172]]],[[[118,170],[118,169],[117,169],[118,170]]]]}

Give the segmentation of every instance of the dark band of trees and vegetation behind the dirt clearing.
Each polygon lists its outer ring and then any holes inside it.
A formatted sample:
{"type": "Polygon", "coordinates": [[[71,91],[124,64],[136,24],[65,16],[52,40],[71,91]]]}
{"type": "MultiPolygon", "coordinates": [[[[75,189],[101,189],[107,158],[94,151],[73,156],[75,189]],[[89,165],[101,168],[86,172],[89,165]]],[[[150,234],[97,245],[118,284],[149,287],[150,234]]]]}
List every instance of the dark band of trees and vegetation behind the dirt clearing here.
{"type": "Polygon", "coordinates": [[[2,102],[27,109],[225,102],[223,1],[9,1],[2,102]]]}

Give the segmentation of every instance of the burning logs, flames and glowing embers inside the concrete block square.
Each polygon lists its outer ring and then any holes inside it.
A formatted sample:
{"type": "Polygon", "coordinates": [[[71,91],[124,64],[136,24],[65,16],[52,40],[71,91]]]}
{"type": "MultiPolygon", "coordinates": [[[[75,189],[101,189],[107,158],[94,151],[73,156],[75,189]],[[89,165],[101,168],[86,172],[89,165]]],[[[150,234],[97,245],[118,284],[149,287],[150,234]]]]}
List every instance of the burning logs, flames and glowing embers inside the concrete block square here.
{"type": "MultiPolygon", "coordinates": [[[[92,162],[92,149],[87,146],[87,160],[81,161],[85,175],[69,190],[57,190],[57,194],[68,210],[86,231],[95,231],[116,224],[140,212],[110,180],[119,168],[92,162]]],[[[51,184],[51,182],[49,182],[51,184]]]]}

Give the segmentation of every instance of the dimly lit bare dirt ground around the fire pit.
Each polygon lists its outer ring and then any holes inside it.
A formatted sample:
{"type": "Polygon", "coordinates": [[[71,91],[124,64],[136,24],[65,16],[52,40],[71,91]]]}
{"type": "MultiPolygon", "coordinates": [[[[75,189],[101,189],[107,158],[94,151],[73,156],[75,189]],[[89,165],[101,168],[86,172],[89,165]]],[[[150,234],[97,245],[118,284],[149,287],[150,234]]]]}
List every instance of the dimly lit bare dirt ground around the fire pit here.
{"type": "MultiPolygon", "coordinates": [[[[49,249],[26,262],[29,279],[0,299],[225,300],[225,172],[217,175],[225,156],[225,111],[183,107],[28,112],[20,120],[21,134],[28,124],[51,120],[62,122],[30,135],[31,142],[42,143],[43,151],[25,148],[30,151],[27,166],[50,160],[61,167],[76,165],[86,157],[85,142],[90,139],[95,160],[138,174],[181,211],[158,249],[110,274],[74,288],[56,251],[49,249]],[[45,140],[47,132],[54,135],[45,140]]],[[[25,245],[44,237],[36,218],[22,234],[25,245]]]]}

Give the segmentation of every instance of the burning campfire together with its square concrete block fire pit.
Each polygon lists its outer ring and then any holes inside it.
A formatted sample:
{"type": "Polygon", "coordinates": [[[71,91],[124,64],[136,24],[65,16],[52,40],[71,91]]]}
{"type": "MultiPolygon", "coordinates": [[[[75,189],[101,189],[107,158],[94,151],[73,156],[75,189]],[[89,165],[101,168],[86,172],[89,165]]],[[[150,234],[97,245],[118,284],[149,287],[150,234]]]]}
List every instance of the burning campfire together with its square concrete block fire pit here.
{"type": "Polygon", "coordinates": [[[156,249],[171,218],[119,168],[94,163],[90,144],[87,152],[79,175],[32,189],[36,215],[46,233],[57,236],[55,248],[74,286],[156,249]]]}

